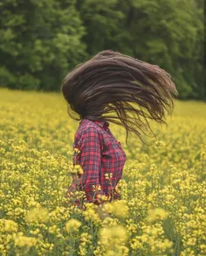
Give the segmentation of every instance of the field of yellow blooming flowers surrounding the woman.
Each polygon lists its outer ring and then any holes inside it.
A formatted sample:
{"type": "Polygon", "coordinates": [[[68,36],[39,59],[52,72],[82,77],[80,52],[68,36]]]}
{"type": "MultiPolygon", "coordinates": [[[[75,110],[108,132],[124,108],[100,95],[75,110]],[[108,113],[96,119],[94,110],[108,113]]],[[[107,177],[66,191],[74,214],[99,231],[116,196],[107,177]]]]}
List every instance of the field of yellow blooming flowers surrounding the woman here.
{"type": "Polygon", "coordinates": [[[65,196],[79,123],[63,97],[0,89],[0,255],[206,255],[205,113],[175,101],[148,145],[111,124],[122,200],[82,211],[65,196]]]}

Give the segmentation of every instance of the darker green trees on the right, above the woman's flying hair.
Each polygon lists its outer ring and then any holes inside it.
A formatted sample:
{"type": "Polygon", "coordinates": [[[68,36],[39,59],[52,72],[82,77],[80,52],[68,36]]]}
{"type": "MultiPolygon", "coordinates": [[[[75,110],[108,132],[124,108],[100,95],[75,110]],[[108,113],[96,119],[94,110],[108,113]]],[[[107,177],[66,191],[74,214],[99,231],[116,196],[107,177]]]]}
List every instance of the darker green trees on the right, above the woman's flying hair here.
{"type": "Polygon", "coordinates": [[[90,55],[110,48],[159,65],[180,98],[203,99],[203,0],[79,0],[90,55]]]}

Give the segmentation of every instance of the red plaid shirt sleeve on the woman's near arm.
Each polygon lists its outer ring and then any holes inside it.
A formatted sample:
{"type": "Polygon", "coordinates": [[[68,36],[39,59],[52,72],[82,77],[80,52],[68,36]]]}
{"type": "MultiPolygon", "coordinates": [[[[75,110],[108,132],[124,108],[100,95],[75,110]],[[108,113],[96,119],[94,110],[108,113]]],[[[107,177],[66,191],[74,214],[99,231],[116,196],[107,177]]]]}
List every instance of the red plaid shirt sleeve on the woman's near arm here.
{"type": "Polygon", "coordinates": [[[83,174],[79,181],[89,202],[99,204],[105,196],[100,187],[101,141],[99,132],[91,127],[84,132],[79,145],[79,164],[83,174]]]}

